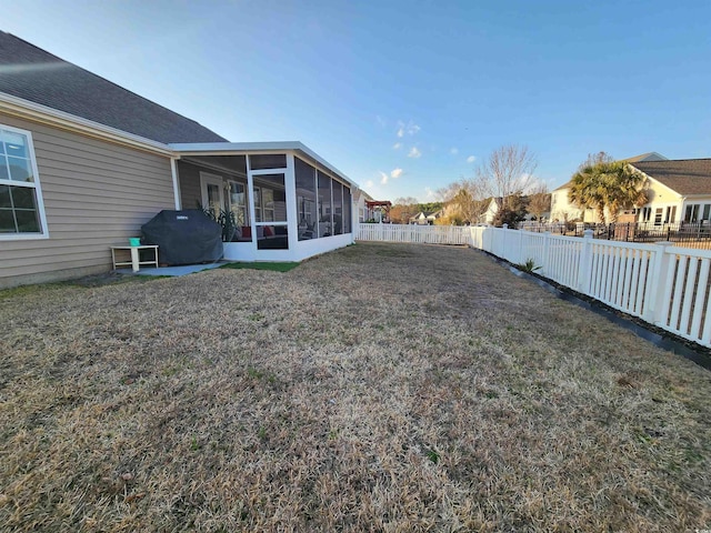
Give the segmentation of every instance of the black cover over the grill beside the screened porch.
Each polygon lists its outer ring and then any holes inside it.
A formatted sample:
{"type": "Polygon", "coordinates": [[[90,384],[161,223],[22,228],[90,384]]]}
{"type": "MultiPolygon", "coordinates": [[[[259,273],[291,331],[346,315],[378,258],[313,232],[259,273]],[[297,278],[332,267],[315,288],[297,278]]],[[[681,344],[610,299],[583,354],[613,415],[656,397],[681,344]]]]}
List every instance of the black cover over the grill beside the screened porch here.
{"type": "Polygon", "coordinates": [[[222,259],[222,228],[199,209],[163,210],[141,227],[143,244],[158,244],[161,264],[222,259]]]}

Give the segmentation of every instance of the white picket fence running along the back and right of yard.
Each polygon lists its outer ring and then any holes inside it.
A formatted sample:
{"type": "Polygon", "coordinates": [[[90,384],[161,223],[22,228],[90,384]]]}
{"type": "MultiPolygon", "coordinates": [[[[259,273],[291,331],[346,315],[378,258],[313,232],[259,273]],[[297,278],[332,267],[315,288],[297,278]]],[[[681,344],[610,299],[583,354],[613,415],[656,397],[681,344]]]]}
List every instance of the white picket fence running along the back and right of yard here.
{"type": "Polygon", "coordinates": [[[490,227],[359,224],[363,241],[468,244],[711,348],[711,251],[490,227]]]}

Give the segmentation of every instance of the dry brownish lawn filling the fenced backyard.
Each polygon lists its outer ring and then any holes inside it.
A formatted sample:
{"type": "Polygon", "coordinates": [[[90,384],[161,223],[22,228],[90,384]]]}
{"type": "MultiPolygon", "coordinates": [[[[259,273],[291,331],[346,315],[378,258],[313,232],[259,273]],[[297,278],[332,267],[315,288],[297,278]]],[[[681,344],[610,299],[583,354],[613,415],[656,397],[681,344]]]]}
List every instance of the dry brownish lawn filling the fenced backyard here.
{"type": "Polygon", "coordinates": [[[2,531],[711,527],[711,374],[464,249],[0,293],[2,531]]]}

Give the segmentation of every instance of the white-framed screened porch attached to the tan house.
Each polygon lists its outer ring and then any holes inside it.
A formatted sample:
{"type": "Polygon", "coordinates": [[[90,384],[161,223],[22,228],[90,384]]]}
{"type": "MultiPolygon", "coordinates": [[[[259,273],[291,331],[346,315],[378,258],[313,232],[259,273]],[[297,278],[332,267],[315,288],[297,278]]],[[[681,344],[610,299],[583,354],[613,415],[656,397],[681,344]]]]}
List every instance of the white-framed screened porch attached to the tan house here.
{"type": "Polygon", "coordinates": [[[229,261],[301,261],[353,242],[356,184],[301,142],[172,144],[176,209],[231,213],[229,261]]]}

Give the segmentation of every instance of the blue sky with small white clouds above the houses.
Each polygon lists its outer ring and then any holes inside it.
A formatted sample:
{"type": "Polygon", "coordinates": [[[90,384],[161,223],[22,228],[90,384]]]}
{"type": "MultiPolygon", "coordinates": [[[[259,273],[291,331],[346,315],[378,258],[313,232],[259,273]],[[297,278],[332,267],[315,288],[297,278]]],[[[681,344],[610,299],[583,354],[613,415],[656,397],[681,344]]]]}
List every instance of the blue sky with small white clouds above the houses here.
{"type": "Polygon", "coordinates": [[[377,199],[429,201],[508,143],[550,189],[600,150],[711,157],[710,0],[12,7],[0,29],[231,141],[302,141],[377,199]]]}

